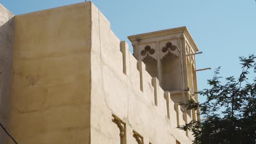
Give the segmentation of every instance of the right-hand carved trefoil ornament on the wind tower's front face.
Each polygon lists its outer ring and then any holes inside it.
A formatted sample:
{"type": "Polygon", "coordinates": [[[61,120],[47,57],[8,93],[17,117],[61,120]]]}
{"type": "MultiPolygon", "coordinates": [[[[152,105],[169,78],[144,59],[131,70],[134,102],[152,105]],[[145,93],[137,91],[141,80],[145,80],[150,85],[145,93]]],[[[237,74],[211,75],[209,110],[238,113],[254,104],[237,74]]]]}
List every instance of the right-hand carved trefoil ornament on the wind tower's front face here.
{"type": "Polygon", "coordinates": [[[175,45],[172,45],[171,42],[168,42],[165,44],[164,47],[162,47],[162,53],[164,53],[164,57],[172,57],[173,55],[178,57],[179,53],[178,53],[178,47],[175,45]]]}

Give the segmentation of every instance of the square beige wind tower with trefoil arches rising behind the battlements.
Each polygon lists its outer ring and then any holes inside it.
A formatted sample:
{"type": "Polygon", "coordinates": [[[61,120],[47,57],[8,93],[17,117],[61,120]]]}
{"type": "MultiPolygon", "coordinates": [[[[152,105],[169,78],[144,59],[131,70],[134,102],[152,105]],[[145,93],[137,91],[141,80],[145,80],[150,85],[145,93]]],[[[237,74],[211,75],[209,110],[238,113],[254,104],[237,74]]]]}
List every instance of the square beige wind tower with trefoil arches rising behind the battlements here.
{"type": "MultiPolygon", "coordinates": [[[[190,96],[197,92],[195,53],[199,49],[186,27],[128,38],[133,46],[133,55],[145,63],[148,73],[158,78],[160,86],[170,92],[173,101],[198,100],[196,94],[190,96]]],[[[188,114],[191,116],[190,112],[188,114]]]]}

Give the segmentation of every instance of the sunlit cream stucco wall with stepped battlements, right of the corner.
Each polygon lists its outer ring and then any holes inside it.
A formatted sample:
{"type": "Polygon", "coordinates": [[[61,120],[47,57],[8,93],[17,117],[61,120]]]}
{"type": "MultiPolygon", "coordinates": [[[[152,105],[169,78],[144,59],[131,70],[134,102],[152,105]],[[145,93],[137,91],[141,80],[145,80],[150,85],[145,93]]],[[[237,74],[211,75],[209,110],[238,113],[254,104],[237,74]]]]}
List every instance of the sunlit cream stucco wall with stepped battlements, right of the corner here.
{"type": "MultiPolygon", "coordinates": [[[[94,5],[91,13],[91,142],[120,143],[119,129],[112,122],[114,114],[126,123],[126,143],[137,144],[133,130],[144,143],[191,143],[193,137],[176,128],[171,96],[165,99],[158,81],[153,86],[154,79],[144,63],[138,62],[127,44],[114,35],[109,21],[94,5]]],[[[177,111],[180,124],[184,124],[182,108],[178,106],[177,111]]]]}

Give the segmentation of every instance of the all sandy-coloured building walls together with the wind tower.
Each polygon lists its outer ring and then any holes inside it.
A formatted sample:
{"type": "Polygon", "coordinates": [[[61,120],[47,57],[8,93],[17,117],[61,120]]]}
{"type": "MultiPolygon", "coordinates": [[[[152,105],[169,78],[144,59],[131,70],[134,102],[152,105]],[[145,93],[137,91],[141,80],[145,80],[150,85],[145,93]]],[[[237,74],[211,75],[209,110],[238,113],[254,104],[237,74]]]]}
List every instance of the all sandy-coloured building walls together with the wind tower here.
{"type": "Polygon", "coordinates": [[[197,100],[187,28],[131,35],[132,55],[91,2],[14,17],[0,6],[0,120],[18,143],[192,143],[176,128],[200,120],[178,104],[197,100]]]}

